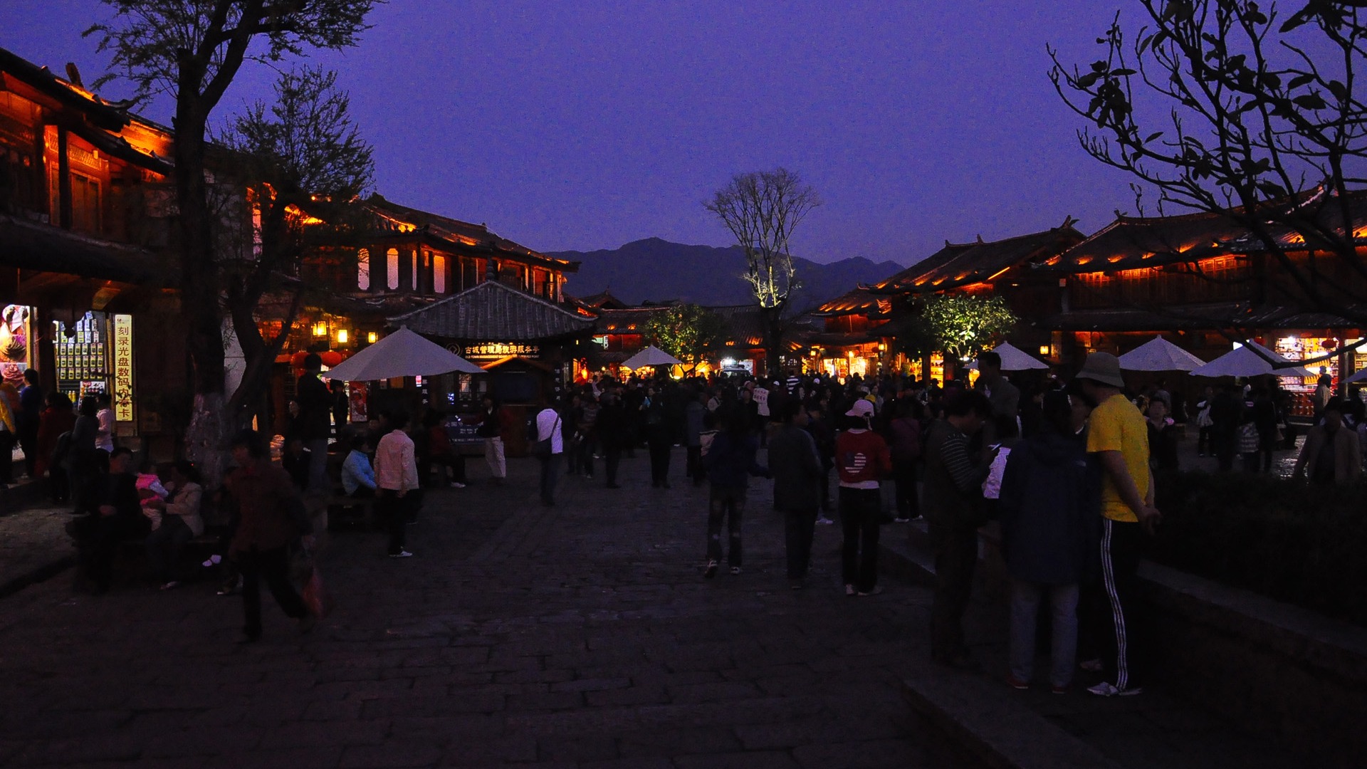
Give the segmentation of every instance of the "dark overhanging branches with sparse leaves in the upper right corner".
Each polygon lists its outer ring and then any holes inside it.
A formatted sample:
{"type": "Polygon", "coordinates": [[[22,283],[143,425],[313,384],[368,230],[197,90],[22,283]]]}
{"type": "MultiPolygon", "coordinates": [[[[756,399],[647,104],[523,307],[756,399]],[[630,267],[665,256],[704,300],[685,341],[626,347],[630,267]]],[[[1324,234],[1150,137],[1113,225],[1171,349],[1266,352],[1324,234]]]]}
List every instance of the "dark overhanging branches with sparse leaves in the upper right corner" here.
{"type": "MultiPolygon", "coordinates": [[[[1117,16],[1089,66],[1068,67],[1048,51],[1055,89],[1089,123],[1083,148],[1132,175],[1139,203],[1156,190],[1159,209],[1221,213],[1245,227],[1290,301],[1367,322],[1367,263],[1355,227],[1344,226],[1367,157],[1356,81],[1367,8],[1310,0],[1282,18],[1251,0],[1137,5],[1147,26],[1133,47],[1117,16]]],[[[1200,274],[1195,261],[1181,264],[1200,274]]]]}

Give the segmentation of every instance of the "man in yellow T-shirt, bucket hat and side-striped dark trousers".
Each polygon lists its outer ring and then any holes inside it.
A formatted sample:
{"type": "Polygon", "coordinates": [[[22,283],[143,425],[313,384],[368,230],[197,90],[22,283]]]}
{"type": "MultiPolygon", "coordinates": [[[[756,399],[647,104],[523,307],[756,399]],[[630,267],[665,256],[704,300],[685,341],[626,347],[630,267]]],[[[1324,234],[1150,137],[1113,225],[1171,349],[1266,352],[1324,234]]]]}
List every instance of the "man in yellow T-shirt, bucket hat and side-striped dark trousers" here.
{"type": "Polygon", "coordinates": [[[1096,404],[1087,430],[1087,452],[1100,460],[1102,583],[1109,616],[1102,638],[1106,680],[1087,691],[1102,696],[1140,694],[1143,649],[1137,609],[1139,558],[1144,536],[1154,534],[1162,514],[1154,508],[1154,476],[1148,469],[1148,427],[1121,389],[1120,360],[1110,353],[1087,356],[1077,372],[1083,393],[1096,404]]]}

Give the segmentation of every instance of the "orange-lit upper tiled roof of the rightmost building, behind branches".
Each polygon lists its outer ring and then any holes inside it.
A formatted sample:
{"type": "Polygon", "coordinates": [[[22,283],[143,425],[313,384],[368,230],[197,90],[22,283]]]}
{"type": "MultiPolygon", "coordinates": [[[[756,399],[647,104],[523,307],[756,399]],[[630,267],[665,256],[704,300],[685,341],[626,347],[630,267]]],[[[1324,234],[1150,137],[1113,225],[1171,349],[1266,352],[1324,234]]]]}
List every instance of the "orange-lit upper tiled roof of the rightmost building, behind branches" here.
{"type": "MultiPolygon", "coordinates": [[[[1337,230],[1342,220],[1337,196],[1308,193],[1299,205],[1308,216],[1337,230]]],[[[1367,194],[1351,193],[1349,216],[1360,244],[1367,244],[1367,194]]],[[[1248,227],[1239,223],[1239,208],[1230,213],[1196,212],[1177,216],[1118,216],[1100,231],[1040,267],[1055,272],[1110,272],[1136,270],[1215,256],[1233,256],[1266,250],[1248,227]]],[[[1303,245],[1300,235],[1288,227],[1273,233],[1284,249],[1303,245]]]]}

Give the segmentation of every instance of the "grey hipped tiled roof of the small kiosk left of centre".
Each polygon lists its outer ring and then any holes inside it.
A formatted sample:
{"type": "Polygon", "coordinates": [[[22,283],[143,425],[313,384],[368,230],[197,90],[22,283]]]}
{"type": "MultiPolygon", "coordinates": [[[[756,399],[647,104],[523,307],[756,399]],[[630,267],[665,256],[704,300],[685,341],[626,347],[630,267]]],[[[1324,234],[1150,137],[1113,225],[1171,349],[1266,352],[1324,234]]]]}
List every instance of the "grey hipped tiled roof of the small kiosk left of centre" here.
{"type": "Polygon", "coordinates": [[[390,317],[390,324],[446,339],[522,342],[586,333],[593,319],[498,281],[485,281],[450,298],[390,317]]]}

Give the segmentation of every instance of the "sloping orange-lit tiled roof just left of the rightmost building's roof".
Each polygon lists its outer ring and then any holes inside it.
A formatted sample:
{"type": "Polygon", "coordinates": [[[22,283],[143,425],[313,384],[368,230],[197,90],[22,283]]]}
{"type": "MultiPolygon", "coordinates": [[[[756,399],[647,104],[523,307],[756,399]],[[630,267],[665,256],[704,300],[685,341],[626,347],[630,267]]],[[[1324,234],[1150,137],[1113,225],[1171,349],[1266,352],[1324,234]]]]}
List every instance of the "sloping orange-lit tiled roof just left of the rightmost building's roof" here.
{"type": "Polygon", "coordinates": [[[1062,226],[1016,235],[999,241],[951,244],[917,261],[887,281],[875,283],[875,293],[932,293],[991,281],[1025,263],[1038,263],[1062,253],[1085,238],[1073,229],[1072,219],[1062,226]]]}

